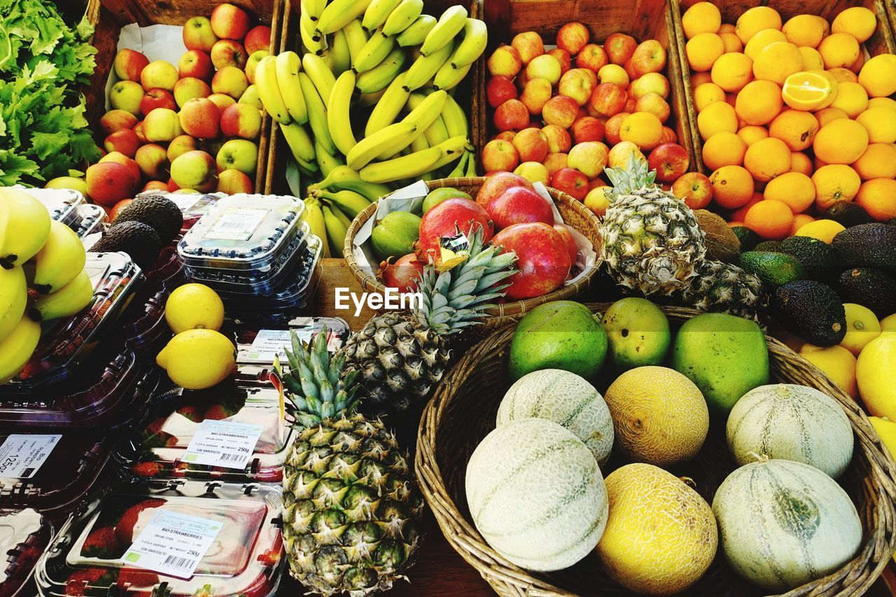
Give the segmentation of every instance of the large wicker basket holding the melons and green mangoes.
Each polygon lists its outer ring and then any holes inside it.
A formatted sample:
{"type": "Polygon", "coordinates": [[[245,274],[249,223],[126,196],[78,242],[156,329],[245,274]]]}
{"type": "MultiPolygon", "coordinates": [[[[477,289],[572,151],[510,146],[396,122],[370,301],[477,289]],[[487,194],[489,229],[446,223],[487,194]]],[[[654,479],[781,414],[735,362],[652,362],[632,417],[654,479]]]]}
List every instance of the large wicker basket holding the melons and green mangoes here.
{"type": "MultiPolygon", "coordinates": [[[[589,307],[601,312],[609,305],[589,307]]],[[[674,325],[698,315],[697,311],[686,308],[664,307],[663,310],[674,325]]],[[[426,502],[452,547],[501,595],[631,594],[606,575],[594,552],[567,570],[530,573],[491,549],[471,522],[464,491],[466,466],[478,443],[495,428],[498,404],[511,385],[507,380],[506,361],[514,330],[514,325],[505,326],[468,350],[427,404],[418,430],[415,462],[426,502]]],[[[893,535],[896,464],[855,402],[781,342],[770,337],[767,342],[772,377],[783,383],[808,385],[834,397],[846,411],[857,437],[853,461],[840,483],[857,506],[864,529],[862,546],[856,558],[833,574],[787,594],[861,595],[881,575],[896,549],[893,535]]],[[[599,385],[600,391],[605,389],[599,385]]],[[[711,416],[710,435],[700,454],[673,471],[694,479],[697,491],[710,503],[719,483],[736,468],[728,455],[724,427],[711,416]]],[[[615,450],[607,463],[605,474],[625,463],[617,453],[615,450]]],[[[686,594],[716,597],[762,593],[727,566],[719,548],[706,575],[686,594]]]]}

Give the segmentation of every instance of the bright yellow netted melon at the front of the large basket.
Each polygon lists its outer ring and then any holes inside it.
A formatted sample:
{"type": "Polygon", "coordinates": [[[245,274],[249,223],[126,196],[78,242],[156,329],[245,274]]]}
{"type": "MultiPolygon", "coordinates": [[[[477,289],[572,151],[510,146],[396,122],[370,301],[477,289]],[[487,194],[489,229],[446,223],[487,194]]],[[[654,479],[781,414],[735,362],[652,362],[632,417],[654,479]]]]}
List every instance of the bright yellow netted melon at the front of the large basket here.
{"type": "Polygon", "coordinates": [[[636,593],[684,591],[706,572],[719,546],[710,505],[685,481],[652,464],[607,476],[610,514],[598,543],[607,573],[636,593]]]}

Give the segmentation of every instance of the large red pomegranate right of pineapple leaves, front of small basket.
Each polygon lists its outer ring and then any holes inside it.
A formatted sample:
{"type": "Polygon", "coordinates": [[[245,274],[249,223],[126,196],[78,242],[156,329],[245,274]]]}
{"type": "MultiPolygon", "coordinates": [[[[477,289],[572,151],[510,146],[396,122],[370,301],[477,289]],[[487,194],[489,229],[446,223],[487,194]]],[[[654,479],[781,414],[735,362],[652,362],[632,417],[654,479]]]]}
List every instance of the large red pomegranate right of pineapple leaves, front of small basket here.
{"type": "Polygon", "coordinates": [[[563,285],[572,267],[563,237],[543,222],[513,224],[495,234],[495,246],[515,251],[519,272],[507,279],[506,298],[531,299],[552,292],[563,285]]]}

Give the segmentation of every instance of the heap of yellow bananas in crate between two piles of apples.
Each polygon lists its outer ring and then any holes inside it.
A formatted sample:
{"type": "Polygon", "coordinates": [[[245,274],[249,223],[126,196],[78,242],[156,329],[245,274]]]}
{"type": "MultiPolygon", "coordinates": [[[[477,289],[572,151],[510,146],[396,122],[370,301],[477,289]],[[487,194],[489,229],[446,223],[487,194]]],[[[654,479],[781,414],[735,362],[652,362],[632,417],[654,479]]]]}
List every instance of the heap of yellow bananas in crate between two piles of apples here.
{"type": "MultiPolygon", "coordinates": [[[[302,0],[304,54],[265,57],[255,85],[306,177],[347,167],[355,182],[388,189],[475,176],[470,125],[451,91],[485,51],[486,24],[463,6],[439,19],[422,11],[423,0],[302,0]]],[[[340,204],[310,199],[331,212],[340,204]]]]}

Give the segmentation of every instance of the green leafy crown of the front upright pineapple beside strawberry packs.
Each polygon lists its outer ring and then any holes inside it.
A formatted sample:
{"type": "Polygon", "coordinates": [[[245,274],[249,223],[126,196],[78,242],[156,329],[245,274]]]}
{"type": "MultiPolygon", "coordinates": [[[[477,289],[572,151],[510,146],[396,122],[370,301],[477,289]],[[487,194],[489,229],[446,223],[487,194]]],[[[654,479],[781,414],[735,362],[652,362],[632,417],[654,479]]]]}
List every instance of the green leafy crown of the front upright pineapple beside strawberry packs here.
{"type": "Polygon", "coordinates": [[[312,342],[301,342],[292,331],[292,350],[286,350],[289,374],[282,376],[288,390],[287,410],[301,427],[314,427],[324,419],[349,415],[360,398],[358,371],[345,370],[345,354],[330,356],[327,350],[327,327],[312,342]]]}

